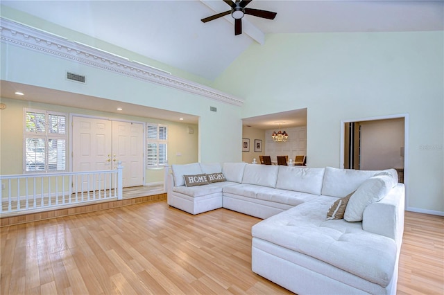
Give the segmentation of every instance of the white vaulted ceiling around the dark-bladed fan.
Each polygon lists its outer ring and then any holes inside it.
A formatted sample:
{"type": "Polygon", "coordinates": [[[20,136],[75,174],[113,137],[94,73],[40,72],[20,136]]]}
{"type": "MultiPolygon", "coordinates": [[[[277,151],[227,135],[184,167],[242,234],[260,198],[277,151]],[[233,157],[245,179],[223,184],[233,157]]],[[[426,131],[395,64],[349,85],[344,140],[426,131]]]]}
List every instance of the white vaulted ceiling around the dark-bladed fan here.
{"type": "Polygon", "coordinates": [[[214,80],[252,42],[268,33],[443,30],[443,1],[264,1],[247,8],[277,12],[274,20],[245,15],[234,36],[222,0],[1,1],[4,6],[214,80]]]}

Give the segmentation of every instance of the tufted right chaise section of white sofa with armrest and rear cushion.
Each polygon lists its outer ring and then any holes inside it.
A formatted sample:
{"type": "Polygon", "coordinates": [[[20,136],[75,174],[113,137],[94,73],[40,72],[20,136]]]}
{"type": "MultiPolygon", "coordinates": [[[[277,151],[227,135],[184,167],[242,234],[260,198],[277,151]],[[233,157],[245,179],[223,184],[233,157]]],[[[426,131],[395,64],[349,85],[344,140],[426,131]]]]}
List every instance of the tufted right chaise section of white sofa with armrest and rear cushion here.
{"type": "Polygon", "coordinates": [[[326,218],[338,197],[357,191],[377,173],[326,168],[323,193],[330,196],[255,224],[253,271],[297,294],[395,294],[404,185],[395,184],[368,204],[361,222],[326,218]]]}

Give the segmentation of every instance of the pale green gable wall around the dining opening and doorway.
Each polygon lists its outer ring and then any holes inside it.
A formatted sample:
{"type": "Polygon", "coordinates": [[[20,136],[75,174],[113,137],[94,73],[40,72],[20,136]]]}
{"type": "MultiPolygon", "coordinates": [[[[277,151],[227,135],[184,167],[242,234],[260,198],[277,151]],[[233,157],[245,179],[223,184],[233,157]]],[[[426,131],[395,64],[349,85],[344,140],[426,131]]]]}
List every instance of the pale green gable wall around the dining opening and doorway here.
{"type": "Polygon", "coordinates": [[[444,214],[443,35],[267,35],[214,86],[246,100],[243,118],[307,107],[311,167],[340,167],[341,120],[409,114],[407,208],[444,214]]]}

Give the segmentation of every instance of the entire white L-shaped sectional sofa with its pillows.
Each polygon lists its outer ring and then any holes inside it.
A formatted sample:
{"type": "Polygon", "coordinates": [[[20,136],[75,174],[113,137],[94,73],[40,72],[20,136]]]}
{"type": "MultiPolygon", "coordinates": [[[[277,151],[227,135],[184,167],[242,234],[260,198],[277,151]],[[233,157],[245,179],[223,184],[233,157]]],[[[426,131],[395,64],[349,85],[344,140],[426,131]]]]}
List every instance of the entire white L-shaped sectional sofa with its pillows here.
{"type": "Polygon", "coordinates": [[[404,185],[395,170],[171,168],[169,205],[191,214],[223,207],[264,219],[252,229],[252,269],[260,276],[297,294],[396,293],[404,185]]]}

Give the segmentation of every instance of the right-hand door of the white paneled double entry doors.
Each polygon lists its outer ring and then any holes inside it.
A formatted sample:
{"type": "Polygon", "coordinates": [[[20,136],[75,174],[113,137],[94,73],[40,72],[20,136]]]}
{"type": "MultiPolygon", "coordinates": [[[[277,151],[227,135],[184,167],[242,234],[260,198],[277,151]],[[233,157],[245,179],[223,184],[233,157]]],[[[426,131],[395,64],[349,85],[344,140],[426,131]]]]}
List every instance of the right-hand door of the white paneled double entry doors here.
{"type": "Polygon", "coordinates": [[[141,123],[112,121],[112,169],[123,166],[123,187],[144,182],[144,126],[141,123]]]}

